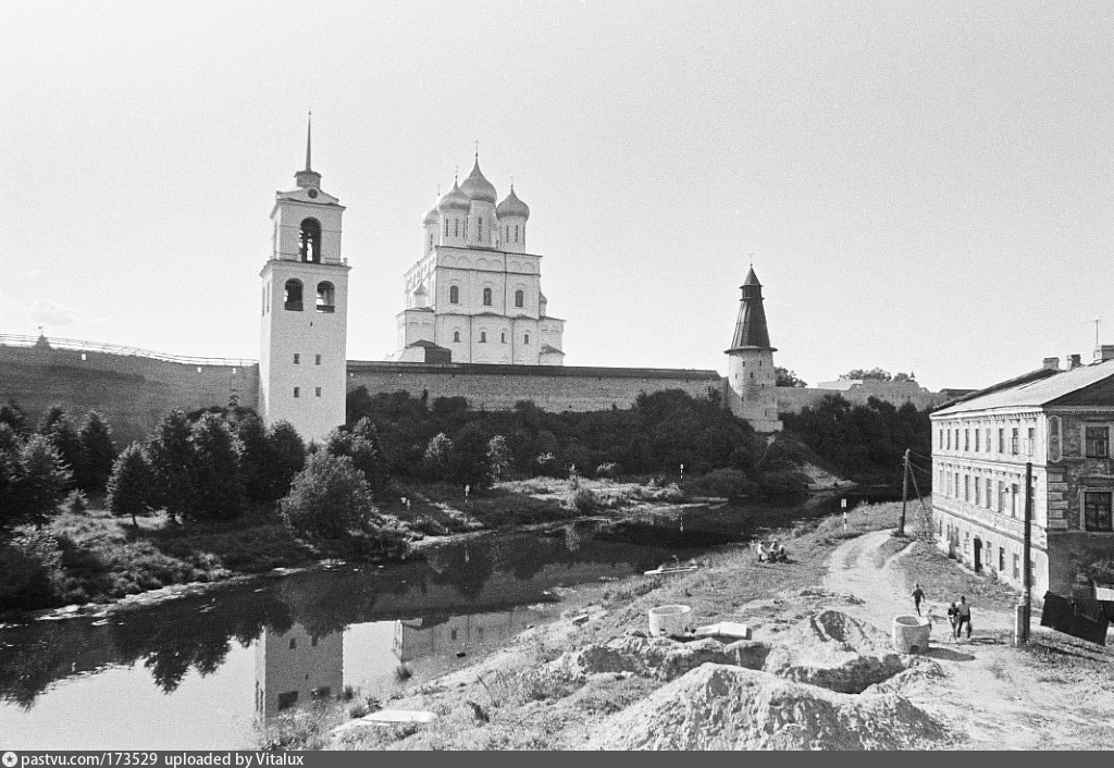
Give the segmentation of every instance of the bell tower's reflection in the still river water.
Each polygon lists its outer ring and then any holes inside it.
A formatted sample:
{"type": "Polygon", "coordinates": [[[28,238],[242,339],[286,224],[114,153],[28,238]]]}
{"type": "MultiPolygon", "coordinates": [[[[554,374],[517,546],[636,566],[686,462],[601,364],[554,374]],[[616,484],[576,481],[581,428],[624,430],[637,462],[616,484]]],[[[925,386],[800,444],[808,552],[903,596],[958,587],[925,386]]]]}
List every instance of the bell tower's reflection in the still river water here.
{"type": "Polygon", "coordinates": [[[295,704],[336,696],[343,688],[344,633],[264,629],[255,641],[255,713],[270,718],[295,704]]]}

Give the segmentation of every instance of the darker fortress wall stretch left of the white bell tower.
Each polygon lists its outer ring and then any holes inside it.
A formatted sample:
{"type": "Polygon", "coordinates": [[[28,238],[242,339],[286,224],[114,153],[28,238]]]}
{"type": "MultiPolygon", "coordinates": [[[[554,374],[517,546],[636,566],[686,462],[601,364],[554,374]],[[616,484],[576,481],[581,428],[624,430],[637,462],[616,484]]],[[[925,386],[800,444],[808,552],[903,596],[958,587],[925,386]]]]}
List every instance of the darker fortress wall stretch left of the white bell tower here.
{"type": "Polygon", "coordinates": [[[258,380],[256,364],[198,366],[0,344],[0,401],[16,400],[32,421],[55,402],[82,416],[97,410],[113,427],[118,448],[143,440],[173,408],[224,406],[233,392],[242,406],[255,408],[258,380]]]}

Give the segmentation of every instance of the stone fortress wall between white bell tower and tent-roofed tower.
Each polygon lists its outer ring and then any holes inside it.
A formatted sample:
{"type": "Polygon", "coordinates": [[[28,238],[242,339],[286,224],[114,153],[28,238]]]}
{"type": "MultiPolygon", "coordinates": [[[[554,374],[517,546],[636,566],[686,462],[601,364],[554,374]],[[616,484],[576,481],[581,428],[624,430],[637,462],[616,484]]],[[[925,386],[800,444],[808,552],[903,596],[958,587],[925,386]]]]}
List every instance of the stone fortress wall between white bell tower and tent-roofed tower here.
{"type": "Polygon", "coordinates": [[[430,400],[465,397],[472,408],[510,410],[534,400],[553,411],[627,408],[639,392],[681,389],[694,397],[723,393],[724,379],[711,370],[582,368],[569,366],[480,366],[469,363],[363,362],[349,360],[348,389],[372,395],[405,390],[430,400]]]}

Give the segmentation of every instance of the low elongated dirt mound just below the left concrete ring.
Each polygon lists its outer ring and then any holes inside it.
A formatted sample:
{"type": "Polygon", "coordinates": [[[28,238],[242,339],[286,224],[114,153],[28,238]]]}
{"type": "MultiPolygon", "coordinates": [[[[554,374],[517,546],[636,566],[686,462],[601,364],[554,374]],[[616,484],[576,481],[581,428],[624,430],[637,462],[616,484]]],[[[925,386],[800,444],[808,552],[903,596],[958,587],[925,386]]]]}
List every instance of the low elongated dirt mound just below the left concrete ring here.
{"type": "MultiPolygon", "coordinates": [[[[744,641],[745,642],[745,641],[744,641]]],[[[547,671],[583,678],[599,672],[633,672],[644,678],[673,680],[701,664],[735,663],[734,654],[711,638],[682,643],[668,638],[620,638],[606,645],[592,644],[561,654],[547,671]]]]}

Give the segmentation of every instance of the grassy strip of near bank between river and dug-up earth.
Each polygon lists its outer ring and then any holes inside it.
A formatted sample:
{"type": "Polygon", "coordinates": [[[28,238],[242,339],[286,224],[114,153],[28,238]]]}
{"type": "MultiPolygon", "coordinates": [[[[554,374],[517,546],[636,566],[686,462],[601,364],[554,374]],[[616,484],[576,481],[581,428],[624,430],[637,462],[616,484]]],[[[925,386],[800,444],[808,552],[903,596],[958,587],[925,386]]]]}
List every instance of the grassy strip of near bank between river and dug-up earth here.
{"type": "MultiPolygon", "coordinates": [[[[597,675],[576,687],[538,673],[564,651],[645,629],[655,605],[684,603],[700,623],[739,621],[755,601],[819,585],[827,560],[843,541],[897,525],[900,504],[864,505],[849,514],[802,524],[781,535],[788,563],[759,563],[733,546],[709,554],[701,570],[675,576],[634,576],[561,591],[564,620],[528,630],[504,650],[448,675],[416,675],[389,691],[351,691],[350,700],[296,710],[258,732],[265,749],[560,749],[577,743],[592,723],[648,696],[661,682],[597,675]],[[588,614],[578,625],[568,619],[588,614]],[[431,726],[361,728],[332,740],[329,731],[378,707],[431,710],[431,726]]],[[[905,542],[907,543],[907,542],[905,542]]]]}

